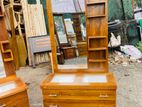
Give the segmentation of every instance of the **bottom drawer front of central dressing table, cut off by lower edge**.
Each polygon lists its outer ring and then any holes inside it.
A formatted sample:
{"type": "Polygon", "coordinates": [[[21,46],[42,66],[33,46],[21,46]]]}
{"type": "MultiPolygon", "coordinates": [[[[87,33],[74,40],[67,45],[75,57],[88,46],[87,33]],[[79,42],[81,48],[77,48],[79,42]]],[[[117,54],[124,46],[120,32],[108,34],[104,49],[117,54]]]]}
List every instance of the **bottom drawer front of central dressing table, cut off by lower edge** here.
{"type": "Polygon", "coordinates": [[[45,103],[44,107],[116,107],[109,103],[45,103]]]}

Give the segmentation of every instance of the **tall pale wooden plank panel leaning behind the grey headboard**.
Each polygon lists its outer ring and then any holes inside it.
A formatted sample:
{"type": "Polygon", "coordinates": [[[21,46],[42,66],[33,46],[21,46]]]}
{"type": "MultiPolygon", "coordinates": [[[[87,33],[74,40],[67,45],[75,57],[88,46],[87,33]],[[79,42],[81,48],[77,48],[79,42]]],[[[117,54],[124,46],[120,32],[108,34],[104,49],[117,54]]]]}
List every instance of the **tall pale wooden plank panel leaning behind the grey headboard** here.
{"type": "Polygon", "coordinates": [[[45,26],[43,6],[40,4],[40,1],[37,1],[37,4],[32,4],[32,5],[29,5],[26,0],[21,0],[21,1],[22,1],[23,14],[25,20],[28,59],[29,59],[29,65],[31,65],[32,58],[29,48],[28,37],[47,35],[47,30],[45,26]]]}

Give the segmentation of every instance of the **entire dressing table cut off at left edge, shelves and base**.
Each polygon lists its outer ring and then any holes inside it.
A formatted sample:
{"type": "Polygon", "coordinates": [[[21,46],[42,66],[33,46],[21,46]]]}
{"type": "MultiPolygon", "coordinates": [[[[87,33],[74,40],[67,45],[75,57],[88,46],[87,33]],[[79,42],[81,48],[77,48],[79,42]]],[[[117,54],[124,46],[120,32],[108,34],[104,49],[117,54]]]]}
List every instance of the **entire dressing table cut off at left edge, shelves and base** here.
{"type": "Polygon", "coordinates": [[[0,52],[5,68],[4,75],[0,76],[0,107],[29,107],[27,86],[20,78],[16,77],[13,53],[5,27],[1,3],[0,52]]]}

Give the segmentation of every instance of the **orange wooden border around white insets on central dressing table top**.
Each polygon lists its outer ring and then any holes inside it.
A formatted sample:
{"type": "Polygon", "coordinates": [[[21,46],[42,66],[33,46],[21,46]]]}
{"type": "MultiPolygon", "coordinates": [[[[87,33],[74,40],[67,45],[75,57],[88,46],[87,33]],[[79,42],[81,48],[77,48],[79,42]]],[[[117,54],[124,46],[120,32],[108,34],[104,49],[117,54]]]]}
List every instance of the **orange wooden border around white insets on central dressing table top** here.
{"type": "MultiPolygon", "coordinates": [[[[84,83],[82,81],[84,75],[88,73],[55,73],[50,74],[43,82],[41,87],[44,89],[116,89],[116,82],[113,74],[111,73],[91,73],[90,75],[105,75],[107,83],[84,83]],[[76,78],[73,83],[52,83],[51,80],[56,75],[75,75],[76,78]],[[58,87],[59,85],[59,87],[58,87]]],[[[88,74],[89,75],[89,74],[88,74]]]]}

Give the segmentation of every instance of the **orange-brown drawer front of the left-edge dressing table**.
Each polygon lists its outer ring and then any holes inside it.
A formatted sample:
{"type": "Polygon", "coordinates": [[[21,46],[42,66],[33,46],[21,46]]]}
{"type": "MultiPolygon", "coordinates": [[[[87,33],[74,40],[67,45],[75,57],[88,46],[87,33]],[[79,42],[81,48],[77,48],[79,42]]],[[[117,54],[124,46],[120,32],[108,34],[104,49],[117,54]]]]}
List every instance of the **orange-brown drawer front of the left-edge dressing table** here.
{"type": "Polygon", "coordinates": [[[27,92],[0,99],[0,107],[29,107],[27,92]]]}

